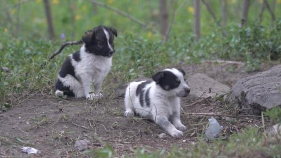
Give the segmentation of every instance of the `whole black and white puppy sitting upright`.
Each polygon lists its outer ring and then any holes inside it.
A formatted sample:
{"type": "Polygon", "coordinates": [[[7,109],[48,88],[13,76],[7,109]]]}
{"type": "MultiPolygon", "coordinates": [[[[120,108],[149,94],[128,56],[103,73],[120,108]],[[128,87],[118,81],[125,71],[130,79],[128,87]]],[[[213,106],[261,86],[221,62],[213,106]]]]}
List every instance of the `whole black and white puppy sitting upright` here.
{"type": "Polygon", "coordinates": [[[82,37],[85,44],[69,55],[59,72],[56,95],[85,97],[93,100],[101,97],[101,84],[111,68],[114,54],[114,36],[111,27],[98,26],[82,37]]]}

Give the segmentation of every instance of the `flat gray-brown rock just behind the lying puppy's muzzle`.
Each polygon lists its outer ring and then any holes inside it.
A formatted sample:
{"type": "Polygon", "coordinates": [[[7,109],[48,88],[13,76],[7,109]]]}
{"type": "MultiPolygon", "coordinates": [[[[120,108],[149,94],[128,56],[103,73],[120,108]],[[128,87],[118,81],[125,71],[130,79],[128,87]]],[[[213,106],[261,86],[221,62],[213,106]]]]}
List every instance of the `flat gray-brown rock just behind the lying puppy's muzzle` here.
{"type": "Polygon", "coordinates": [[[226,86],[207,75],[197,73],[191,75],[187,79],[190,86],[190,96],[196,96],[197,98],[203,94],[203,98],[214,97],[228,93],[230,91],[229,86],[226,86]]]}

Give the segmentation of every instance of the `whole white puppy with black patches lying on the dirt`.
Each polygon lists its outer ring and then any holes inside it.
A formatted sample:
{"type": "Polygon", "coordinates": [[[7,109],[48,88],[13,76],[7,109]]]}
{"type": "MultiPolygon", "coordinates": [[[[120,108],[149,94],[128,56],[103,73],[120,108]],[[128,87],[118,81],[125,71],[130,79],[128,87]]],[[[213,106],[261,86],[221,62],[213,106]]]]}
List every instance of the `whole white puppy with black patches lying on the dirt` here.
{"type": "Polygon", "coordinates": [[[125,116],[134,112],[155,121],[173,137],[183,136],[186,130],[180,121],[180,98],[190,92],[185,72],[165,69],[152,76],[153,81],[131,82],[125,94],[125,116]]]}

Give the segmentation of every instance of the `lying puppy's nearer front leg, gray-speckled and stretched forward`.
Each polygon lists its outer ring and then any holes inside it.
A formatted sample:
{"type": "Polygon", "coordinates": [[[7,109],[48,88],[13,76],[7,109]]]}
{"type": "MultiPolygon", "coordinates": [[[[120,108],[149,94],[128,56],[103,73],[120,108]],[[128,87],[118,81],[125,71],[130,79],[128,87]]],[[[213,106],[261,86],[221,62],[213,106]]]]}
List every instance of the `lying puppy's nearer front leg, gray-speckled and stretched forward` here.
{"type": "Polygon", "coordinates": [[[173,124],[165,116],[156,116],[155,121],[163,130],[169,133],[172,137],[183,136],[182,131],[179,131],[175,128],[173,124]]]}

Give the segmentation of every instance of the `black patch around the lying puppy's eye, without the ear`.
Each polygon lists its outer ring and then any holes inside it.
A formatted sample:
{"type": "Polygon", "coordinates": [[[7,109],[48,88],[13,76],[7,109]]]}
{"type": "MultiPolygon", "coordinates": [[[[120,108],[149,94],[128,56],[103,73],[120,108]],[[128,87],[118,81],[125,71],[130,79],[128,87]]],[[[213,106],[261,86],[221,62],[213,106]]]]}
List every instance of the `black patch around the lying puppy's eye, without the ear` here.
{"type": "Polygon", "coordinates": [[[180,80],[170,71],[163,71],[164,76],[159,80],[158,84],[166,91],[177,88],[180,80]]]}

